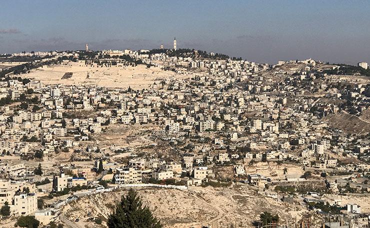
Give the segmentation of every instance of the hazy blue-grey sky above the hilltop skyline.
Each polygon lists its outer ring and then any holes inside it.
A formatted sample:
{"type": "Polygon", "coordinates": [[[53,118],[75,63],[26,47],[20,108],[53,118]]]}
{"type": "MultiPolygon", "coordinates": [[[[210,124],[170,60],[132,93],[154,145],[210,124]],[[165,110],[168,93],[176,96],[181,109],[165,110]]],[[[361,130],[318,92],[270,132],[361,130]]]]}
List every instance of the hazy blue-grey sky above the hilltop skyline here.
{"type": "Polygon", "coordinates": [[[249,61],[370,63],[367,0],[4,0],[0,53],[202,49],[249,61]]]}

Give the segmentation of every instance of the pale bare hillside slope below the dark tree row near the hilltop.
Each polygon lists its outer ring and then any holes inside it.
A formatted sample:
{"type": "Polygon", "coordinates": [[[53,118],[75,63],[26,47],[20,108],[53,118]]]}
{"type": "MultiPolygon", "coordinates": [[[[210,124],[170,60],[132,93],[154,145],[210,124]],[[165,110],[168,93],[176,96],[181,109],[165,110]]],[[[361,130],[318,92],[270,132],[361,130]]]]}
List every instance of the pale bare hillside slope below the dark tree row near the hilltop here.
{"type": "Polygon", "coordinates": [[[164,71],[158,67],[147,68],[145,65],[137,66],[107,66],[97,67],[77,62],[68,62],[61,65],[43,66],[22,75],[25,78],[40,80],[44,84],[65,85],[96,85],[108,88],[133,89],[148,88],[156,79],[176,76],[184,78],[173,71],[164,71]],[[69,73],[70,77],[63,79],[69,73]]]}

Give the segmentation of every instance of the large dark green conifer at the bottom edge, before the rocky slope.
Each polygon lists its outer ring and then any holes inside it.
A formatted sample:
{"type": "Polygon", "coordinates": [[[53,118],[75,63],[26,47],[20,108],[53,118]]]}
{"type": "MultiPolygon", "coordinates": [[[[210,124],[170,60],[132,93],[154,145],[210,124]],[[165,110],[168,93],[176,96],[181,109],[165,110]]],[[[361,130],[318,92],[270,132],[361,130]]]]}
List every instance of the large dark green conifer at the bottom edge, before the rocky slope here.
{"type": "Polygon", "coordinates": [[[115,206],[107,225],[108,228],[162,228],[150,210],[146,206],[142,207],[141,199],[132,189],[115,206]]]}

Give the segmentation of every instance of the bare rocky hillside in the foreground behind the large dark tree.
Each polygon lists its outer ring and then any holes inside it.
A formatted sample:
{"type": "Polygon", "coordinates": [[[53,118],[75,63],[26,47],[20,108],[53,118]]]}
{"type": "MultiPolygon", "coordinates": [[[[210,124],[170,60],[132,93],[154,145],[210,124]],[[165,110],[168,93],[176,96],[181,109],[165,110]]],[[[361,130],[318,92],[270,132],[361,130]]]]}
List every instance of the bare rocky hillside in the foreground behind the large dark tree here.
{"type": "MultiPolygon", "coordinates": [[[[278,213],[282,218],[298,219],[306,214],[305,208],[286,203],[278,203],[272,198],[257,194],[250,186],[232,186],[219,189],[194,188],[181,191],[174,189],[147,188],[138,190],[144,205],[147,205],[153,214],[165,227],[188,228],[202,225],[226,225],[237,223],[250,225],[259,219],[259,214],[268,211],[278,213]]],[[[120,201],[126,191],[100,193],[65,205],[61,213],[74,221],[86,220],[87,213],[91,217],[98,217],[105,221],[112,213],[114,205],[120,201]]],[[[96,224],[83,223],[81,227],[96,227],[96,224]]]]}

